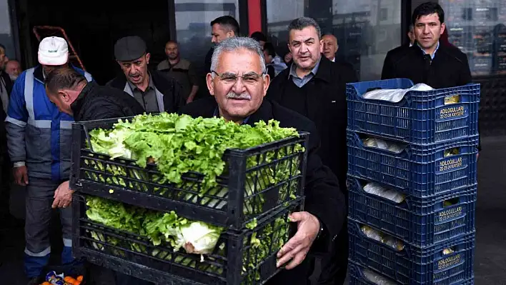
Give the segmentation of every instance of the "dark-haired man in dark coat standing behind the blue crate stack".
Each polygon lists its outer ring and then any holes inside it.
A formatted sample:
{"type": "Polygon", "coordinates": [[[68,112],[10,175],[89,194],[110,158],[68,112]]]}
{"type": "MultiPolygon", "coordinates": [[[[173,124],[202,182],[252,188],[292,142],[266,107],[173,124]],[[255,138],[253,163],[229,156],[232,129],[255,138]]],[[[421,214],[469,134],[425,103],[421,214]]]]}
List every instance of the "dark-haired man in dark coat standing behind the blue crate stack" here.
{"type": "Polygon", "coordinates": [[[471,82],[467,56],[457,48],[440,44],[445,31],[445,12],[427,2],[413,11],[417,42],[404,52],[385,59],[382,79],[408,78],[432,88],[462,86],[471,82]]]}

